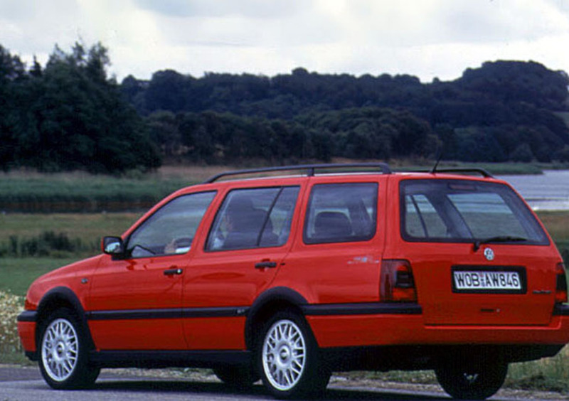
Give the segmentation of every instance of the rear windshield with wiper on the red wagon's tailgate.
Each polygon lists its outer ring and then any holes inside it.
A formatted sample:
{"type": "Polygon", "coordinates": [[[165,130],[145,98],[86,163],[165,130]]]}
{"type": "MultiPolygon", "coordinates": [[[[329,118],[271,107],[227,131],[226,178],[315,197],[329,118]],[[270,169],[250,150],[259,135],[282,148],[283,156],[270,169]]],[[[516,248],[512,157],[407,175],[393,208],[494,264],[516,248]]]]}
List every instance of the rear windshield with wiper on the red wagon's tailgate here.
{"type": "Polygon", "coordinates": [[[531,210],[499,183],[406,180],[400,183],[401,232],[409,241],[502,242],[548,245],[531,210]]]}

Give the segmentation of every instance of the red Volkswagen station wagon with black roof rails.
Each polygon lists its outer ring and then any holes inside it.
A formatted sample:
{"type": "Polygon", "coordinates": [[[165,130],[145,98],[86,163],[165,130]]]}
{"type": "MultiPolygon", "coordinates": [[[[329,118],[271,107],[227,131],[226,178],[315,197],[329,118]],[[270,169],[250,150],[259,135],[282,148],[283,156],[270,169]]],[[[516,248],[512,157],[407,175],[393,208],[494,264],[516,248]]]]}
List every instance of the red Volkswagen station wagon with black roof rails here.
{"type": "Polygon", "coordinates": [[[100,368],[191,366],[286,398],[318,394],[333,371],[434,369],[452,397],[482,399],[509,363],[569,341],[562,259],[484,170],[232,171],[102,250],[37,279],[18,316],[55,389],[100,368]]]}

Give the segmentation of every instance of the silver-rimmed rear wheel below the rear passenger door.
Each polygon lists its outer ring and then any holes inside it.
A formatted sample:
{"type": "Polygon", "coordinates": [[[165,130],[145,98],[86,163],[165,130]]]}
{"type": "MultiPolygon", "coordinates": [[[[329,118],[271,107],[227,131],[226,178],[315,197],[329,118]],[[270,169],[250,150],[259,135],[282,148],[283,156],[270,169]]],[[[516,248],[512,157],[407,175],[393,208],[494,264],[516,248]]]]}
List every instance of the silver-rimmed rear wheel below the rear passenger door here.
{"type": "Polygon", "coordinates": [[[277,398],[321,395],[330,378],[319,363],[312,331],[294,312],[282,311],[267,321],[256,358],[263,384],[277,398]]]}

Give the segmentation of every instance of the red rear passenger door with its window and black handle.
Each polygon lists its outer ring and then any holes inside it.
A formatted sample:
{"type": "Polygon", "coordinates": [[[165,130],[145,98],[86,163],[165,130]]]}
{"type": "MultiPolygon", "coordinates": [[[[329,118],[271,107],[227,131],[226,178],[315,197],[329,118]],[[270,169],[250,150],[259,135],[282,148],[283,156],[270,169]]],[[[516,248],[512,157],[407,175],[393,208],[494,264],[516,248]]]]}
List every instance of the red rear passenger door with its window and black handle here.
{"type": "Polygon", "coordinates": [[[300,185],[233,188],[184,275],[191,349],[245,348],[245,314],[275,277],[292,242],[300,185]]]}

